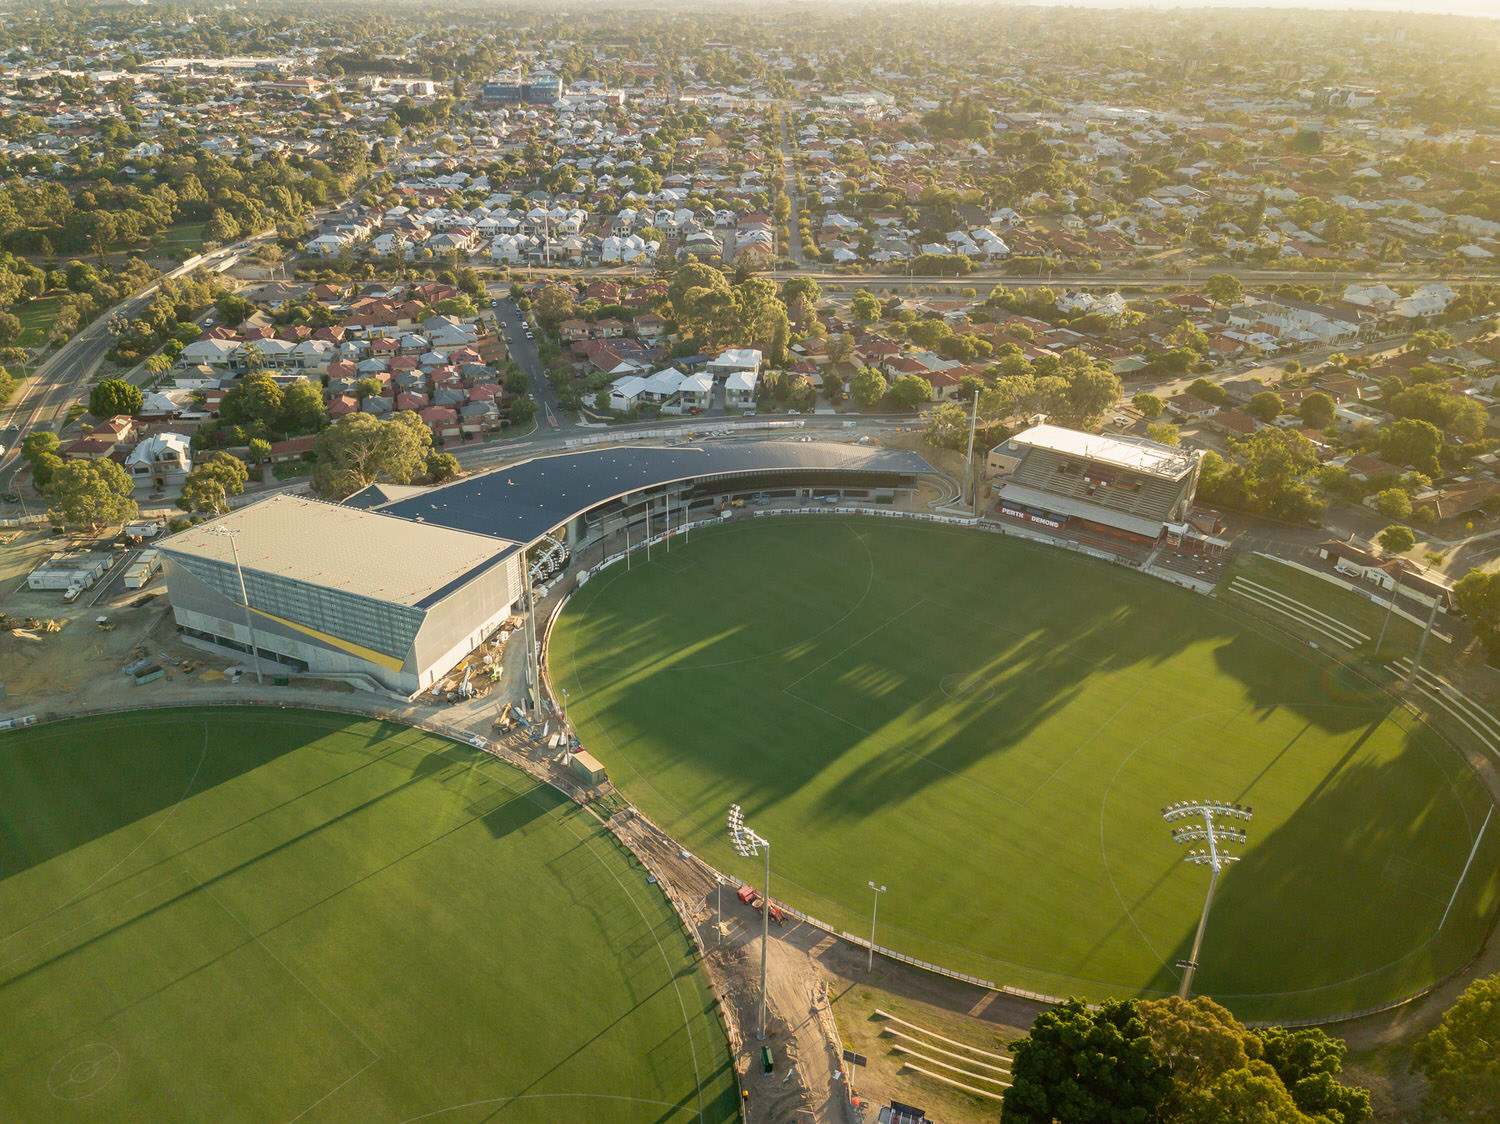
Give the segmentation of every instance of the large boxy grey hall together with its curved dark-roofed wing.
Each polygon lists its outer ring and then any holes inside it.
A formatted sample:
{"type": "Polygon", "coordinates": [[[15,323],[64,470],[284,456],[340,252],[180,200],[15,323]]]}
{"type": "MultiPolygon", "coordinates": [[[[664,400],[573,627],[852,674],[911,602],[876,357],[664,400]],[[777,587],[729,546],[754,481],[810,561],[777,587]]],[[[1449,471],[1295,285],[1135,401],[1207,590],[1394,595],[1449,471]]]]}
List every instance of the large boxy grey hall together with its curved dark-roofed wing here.
{"type": "Polygon", "coordinates": [[[531,546],[556,560],[627,528],[640,542],[735,498],[892,503],[930,471],[915,453],[822,441],[600,449],[340,504],[279,495],[159,548],[190,641],[249,653],[254,630],[276,674],[411,696],[524,608],[531,546]]]}

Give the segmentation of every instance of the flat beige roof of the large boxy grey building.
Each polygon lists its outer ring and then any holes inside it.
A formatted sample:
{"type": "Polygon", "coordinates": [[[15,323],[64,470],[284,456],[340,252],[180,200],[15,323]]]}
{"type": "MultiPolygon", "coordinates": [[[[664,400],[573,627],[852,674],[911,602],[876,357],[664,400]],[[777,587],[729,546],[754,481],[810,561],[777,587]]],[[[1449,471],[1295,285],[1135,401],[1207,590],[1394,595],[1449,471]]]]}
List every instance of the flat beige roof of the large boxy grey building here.
{"type": "Polygon", "coordinates": [[[168,554],[232,564],[394,605],[422,606],[514,543],[393,519],[344,504],[274,495],[201,522],[160,543],[168,554]],[[219,528],[234,531],[216,534],[219,528]]]}

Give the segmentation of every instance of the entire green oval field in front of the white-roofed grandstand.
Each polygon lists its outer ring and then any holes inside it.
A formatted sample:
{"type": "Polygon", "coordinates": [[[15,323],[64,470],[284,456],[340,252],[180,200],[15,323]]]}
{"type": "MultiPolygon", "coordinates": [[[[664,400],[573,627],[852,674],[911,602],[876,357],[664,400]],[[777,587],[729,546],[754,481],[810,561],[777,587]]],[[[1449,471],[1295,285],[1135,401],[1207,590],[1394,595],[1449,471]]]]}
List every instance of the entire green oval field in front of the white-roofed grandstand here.
{"type": "Polygon", "coordinates": [[[1047,993],[1174,990],[1208,870],[1160,810],[1251,804],[1196,989],[1245,1017],[1352,1011],[1464,965],[1500,815],[1353,672],[1254,618],[1014,539],[768,519],[576,593],[550,648],[584,744],[684,846],[952,969],[1047,993]]]}

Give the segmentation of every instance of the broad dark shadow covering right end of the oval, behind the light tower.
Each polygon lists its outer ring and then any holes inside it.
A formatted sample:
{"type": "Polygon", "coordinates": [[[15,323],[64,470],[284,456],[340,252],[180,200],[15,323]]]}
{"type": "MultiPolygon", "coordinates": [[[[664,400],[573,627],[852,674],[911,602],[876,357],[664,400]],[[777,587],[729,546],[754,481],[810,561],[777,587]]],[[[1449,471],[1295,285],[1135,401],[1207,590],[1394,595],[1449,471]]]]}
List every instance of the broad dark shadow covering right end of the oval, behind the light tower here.
{"type": "MultiPolygon", "coordinates": [[[[1346,756],[1284,824],[1262,833],[1250,822],[1250,845],[1234,848],[1242,857],[1218,882],[1194,990],[1246,1017],[1320,1014],[1389,1001],[1456,968],[1500,900],[1500,837],[1486,833],[1437,932],[1480,801],[1458,755],[1430,732],[1384,761],[1346,756]]],[[[1203,867],[1184,863],[1172,876],[1208,890],[1203,867]]],[[[1191,951],[1197,912],[1184,920],[1154,989],[1178,986],[1172,965],[1191,951]]]]}

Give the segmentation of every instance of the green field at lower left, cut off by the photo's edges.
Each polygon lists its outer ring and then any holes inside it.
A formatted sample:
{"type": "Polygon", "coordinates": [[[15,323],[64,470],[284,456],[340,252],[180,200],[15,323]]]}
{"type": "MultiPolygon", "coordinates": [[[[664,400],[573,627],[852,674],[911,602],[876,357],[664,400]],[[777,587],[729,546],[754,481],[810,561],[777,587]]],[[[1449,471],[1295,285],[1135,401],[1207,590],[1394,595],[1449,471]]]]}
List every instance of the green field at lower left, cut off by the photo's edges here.
{"type": "Polygon", "coordinates": [[[687,935],[586,812],[296,710],[0,734],[0,1119],[720,1121],[687,935]]]}

